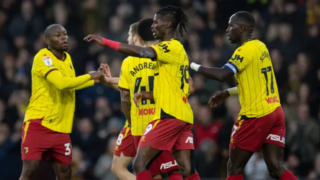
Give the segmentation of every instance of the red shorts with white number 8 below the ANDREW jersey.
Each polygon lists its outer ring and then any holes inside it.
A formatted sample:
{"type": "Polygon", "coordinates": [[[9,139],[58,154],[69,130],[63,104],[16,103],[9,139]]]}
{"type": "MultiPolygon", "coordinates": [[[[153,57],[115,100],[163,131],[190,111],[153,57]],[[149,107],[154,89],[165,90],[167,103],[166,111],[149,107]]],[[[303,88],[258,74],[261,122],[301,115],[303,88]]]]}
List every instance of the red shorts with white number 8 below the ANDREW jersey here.
{"type": "Polygon", "coordinates": [[[130,127],[123,127],[119,133],[118,139],[113,150],[113,154],[120,156],[121,152],[124,156],[134,157],[133,137],[130,127]]]}

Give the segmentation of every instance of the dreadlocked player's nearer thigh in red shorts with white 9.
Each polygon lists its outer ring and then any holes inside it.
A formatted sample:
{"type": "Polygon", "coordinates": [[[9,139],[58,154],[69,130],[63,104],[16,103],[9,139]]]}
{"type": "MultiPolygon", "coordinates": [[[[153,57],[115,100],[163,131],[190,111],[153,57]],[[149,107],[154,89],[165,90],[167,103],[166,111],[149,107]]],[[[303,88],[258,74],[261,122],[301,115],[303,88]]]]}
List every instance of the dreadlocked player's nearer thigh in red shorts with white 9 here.
{"type": "Polygon", "coordinates": [[[138,146],[171,151],[186,122],[174,118],[151,121],[144,130],[138,146]]]}

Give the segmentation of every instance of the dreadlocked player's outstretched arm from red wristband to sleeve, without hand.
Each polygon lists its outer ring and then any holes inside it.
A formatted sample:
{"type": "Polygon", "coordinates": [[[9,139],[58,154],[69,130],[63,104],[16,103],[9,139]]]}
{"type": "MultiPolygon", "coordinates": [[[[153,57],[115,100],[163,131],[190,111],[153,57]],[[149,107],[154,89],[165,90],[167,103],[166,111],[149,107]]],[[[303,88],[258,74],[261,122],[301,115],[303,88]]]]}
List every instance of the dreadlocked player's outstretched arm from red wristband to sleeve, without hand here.
{"type": "Polygon", "coordinates": [[[102,38],[103,45],[111,47],[119,52],[133,57],[144,57],[154,59],[154,51],[150,47],[140,47],[137,45],[130,45],[125,43],[119,43],[113,40],[102,38]]]}

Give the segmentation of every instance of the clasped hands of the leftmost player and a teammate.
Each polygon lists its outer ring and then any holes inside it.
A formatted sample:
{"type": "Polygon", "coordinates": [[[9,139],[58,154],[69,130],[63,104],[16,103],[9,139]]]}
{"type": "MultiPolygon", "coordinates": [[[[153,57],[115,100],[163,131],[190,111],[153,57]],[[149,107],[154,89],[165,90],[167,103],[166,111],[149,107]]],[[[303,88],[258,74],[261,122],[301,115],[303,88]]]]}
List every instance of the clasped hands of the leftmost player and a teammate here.
{"type": "Polygon", "coordinates": [[[91,80],[94,80],[94,83],[97,82],[106,82],[108,83],[111,76],[110,67],[108,64],[100,64],[100,67],[97,71],[90,71],[89,75],[91,76],[91,80]]]}

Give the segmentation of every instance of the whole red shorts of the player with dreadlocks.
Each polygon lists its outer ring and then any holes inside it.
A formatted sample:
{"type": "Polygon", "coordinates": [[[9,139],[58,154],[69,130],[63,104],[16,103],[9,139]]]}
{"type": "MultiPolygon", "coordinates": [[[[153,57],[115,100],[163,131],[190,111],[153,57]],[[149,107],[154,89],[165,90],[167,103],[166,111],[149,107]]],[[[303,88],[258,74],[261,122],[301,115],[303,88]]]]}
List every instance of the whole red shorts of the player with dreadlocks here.
{"type": "Polygon", "coordinates": [[[146,126],[139,147],[149,144],[158,150],[194,149],[192,124],[175,118],[153,120],[146,126]]]}

